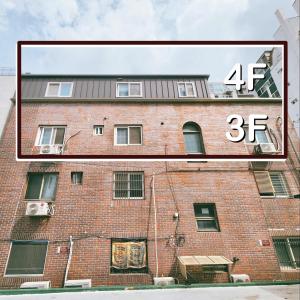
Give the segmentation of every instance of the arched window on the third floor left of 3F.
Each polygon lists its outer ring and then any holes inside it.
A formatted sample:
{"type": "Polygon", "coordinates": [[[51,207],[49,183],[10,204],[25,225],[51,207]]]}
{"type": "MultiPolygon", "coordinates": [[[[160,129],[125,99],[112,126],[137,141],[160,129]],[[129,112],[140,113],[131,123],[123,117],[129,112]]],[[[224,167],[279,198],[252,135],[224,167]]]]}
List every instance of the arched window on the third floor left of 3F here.
{"type": "Polygon", "coordinates": [[[201,128],[197,123],[185,123],[183,125],[183,136],[186,153],[205,153],[201,128]]]}

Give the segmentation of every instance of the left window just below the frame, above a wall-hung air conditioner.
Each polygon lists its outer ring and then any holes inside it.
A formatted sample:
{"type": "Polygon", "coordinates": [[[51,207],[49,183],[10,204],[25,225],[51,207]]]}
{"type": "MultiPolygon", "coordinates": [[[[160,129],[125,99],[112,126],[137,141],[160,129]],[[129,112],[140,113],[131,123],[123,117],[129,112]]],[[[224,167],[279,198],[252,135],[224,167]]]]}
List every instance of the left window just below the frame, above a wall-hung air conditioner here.
{"type": "Polygon", "coordinates": [[[58,174],[29,173],[25,199],[54,200],[58,174]]]}

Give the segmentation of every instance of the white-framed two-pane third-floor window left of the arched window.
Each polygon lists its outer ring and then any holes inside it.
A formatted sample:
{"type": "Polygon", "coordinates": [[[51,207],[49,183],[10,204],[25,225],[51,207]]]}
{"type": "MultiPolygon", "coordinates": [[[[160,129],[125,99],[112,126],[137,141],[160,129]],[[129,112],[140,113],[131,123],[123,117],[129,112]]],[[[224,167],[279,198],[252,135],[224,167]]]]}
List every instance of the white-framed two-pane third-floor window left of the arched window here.
{"type": "Polygon", "coordinates": [[[118,125],[115,126],[115,145],[142,145],[141,125],[118,125]]]}

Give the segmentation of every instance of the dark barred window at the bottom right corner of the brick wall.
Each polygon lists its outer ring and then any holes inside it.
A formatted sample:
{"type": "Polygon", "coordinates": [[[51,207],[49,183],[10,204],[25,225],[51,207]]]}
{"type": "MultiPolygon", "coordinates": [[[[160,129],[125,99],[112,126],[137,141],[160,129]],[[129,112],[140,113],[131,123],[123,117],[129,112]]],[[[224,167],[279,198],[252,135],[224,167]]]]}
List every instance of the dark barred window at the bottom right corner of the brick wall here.
{"type": "Polygon", "coordinates": [[[276,238],[273,244],[282,268],[300,268],[300,238],[276,238]]]}

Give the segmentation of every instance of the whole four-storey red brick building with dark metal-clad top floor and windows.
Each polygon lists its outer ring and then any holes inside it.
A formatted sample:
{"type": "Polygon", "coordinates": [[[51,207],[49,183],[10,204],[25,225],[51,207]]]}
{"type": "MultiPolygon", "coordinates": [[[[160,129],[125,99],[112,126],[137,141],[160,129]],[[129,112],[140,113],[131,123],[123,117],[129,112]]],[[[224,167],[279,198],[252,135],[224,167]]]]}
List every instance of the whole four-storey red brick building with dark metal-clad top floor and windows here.
{"type": "MultiPolygon", "coordinates": [[[[267,114],[256,141],[276,152],[281,104],[209,99],[207,76],[27,75],[22,152],[252,153],[247,136],[226,141],[230,113],[267,114]]],[[[0,286],[299,278],[299,140],[289,127],[285,162],[16,162],[13,110],[0,144],[0,286]]]]}

